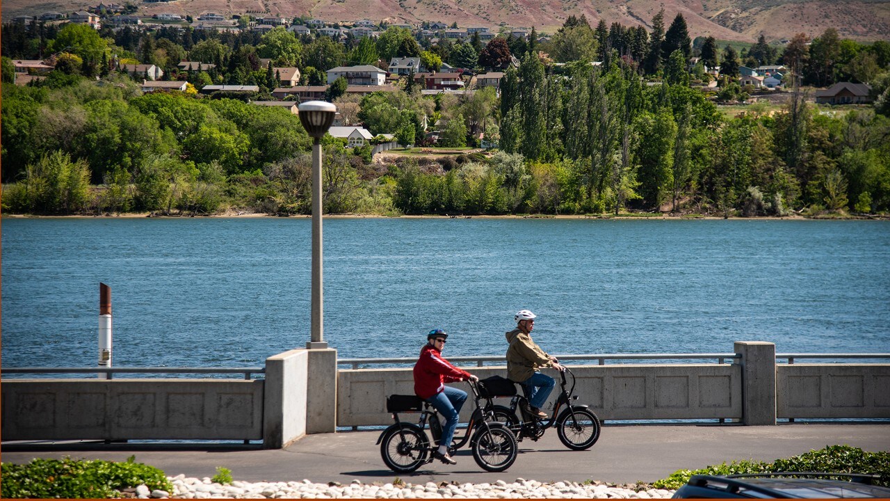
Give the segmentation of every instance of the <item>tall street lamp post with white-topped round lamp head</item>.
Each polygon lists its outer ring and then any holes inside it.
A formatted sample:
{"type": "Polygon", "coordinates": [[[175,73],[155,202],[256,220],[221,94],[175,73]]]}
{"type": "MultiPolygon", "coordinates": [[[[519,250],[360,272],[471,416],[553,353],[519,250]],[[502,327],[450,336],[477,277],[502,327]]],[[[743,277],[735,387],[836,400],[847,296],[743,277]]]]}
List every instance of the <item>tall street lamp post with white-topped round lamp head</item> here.
{"type": "Polygon", "coordinates": [[[321,275],[321,138],[334,122],[336,106],[323,101],[300,104],[300,122],[312,136],[312,341],[308,349],[326,349],[324,341],[324,294],[321,275]]]}

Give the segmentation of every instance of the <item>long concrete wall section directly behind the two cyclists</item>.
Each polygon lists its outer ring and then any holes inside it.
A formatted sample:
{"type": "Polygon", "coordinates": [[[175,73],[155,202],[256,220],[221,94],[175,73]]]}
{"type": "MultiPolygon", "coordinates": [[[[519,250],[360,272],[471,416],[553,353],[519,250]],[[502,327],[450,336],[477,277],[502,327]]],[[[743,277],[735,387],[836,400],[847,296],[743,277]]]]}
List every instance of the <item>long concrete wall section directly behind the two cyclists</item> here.
{"type": "MultiPolygon", "coordinates": [[[[464,367],[484,379],[506,376],[506,366],[464,367]]],[[[741,367],[730,364],[695,365],[572,365],[578,378],[578,404],[587,404],[601,419],[740,419],[741,367]]],[[[552,408],[559,391],[557,380],[545,405],[552,408]]],[[[470,391],[466,383],[458,388],[470,391]]],[[[338,426],[392,423],[386,396],[414,393],[409,368],[341,370],[337,374],[338,426]]],[[[506,404],[507,399],[502,399],[506,404]]],[[[461,415],[468,417],[468,402],[461,415]]]]}

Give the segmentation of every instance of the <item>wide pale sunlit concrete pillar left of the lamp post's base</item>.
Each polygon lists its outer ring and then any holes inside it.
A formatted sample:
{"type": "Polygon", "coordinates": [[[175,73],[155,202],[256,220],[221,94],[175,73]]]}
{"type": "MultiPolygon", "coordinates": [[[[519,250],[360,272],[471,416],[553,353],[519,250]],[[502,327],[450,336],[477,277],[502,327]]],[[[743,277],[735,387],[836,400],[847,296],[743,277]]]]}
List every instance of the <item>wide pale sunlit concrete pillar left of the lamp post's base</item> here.
{"type": "Polygon", "coordinates": [[[306,434],[309,350],[266,358],[263,382],[263,447],[285,448],[306,434]]]}

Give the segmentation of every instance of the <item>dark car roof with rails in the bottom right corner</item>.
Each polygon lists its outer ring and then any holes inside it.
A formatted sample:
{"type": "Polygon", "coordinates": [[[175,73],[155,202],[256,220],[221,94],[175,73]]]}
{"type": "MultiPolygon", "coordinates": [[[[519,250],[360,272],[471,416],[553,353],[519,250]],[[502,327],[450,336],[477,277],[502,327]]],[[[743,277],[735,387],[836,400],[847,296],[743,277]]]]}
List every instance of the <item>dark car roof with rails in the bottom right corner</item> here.
{"type": "MultiPolygon", "coordinates": [[[[797,475],[800,475],[799,473],[797,475]]],[[[824,476],[821,475],[821,476],[824,476]]],[[[868,480],[860,478],[854,480],[868,480]]],[[[693,475],[689,483],[676,491],[676,498],[693,497],[890,497],[890,489],[847,480],[770,476],[693,475]]]]}

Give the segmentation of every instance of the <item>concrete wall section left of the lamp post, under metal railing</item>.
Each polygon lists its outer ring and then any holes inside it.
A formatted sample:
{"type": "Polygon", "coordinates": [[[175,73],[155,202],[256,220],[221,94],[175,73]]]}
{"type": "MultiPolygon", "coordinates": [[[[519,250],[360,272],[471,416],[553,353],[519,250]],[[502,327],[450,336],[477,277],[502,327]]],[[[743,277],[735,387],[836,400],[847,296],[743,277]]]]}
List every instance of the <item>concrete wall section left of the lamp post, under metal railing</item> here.
{"type": "Polygon", "coordinates": [[[263,381],[4,380],[3,439],[262,439],[263,381]]]}

